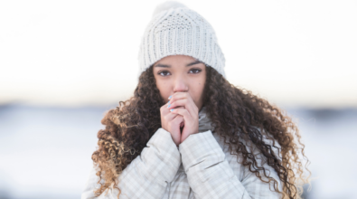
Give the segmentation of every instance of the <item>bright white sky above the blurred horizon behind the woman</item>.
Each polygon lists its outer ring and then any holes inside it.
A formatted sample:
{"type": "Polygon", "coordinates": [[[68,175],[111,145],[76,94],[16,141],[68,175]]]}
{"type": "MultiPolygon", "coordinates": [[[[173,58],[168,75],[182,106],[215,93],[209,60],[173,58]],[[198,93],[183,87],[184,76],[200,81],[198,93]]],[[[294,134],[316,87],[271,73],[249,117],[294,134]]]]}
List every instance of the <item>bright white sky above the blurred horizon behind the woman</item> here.
{"type": "MultiPolygon", "coordinates": [[[[0,104],[117,103],[137,84],[137,53],[163,1],[1,1],[0,104]]],[[[227,79],[272,103],[357,107],[357,1],[198,1],[227,79]]]]}

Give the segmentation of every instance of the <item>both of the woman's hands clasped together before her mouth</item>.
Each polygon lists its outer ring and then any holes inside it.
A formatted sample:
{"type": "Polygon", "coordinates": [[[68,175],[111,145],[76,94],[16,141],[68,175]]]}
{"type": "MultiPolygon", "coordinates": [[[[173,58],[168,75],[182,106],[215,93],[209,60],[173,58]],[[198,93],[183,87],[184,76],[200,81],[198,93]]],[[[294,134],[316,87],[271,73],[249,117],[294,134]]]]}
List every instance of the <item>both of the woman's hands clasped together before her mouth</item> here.
{"type": "Polygon", "coordinates": [[[199,109],[188,92],[175,92],[160,108],[162,128],[170,132],[176,146],[190,135],[198,133],[198,112],[199,109]]]}

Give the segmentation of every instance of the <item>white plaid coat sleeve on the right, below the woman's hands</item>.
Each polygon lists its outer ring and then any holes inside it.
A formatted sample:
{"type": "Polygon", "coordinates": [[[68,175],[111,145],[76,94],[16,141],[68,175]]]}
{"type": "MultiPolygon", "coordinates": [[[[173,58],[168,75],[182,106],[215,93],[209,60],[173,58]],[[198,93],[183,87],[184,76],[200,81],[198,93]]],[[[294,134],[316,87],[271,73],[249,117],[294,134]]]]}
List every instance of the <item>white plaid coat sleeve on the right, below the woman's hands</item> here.
{"type": "MultiPolygon", "coordinates": [[[[281,194],[274,192],[272,186],[273,191],[269,189],[269,184],[262,182],[249,170],[246,174],[234,174],[211,130],[190,135],[180,144],[179,150],[188,182],[197,199],[281,198],[281,194]],[[245,175],[242,182],[238,177],[240,175],[245,175]]],[[[272,177],[279,183],[277,175],[272,175],[272,177]]]]}

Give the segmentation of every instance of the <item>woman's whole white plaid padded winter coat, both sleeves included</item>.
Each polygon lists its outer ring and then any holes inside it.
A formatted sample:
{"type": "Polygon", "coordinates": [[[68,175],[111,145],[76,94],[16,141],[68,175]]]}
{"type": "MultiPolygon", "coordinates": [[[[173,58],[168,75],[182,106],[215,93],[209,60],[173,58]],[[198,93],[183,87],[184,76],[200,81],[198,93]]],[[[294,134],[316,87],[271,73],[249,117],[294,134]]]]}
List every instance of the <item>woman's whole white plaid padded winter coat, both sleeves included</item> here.
{"type": "MultiPolygon", "coordinates": [[[[271,145],[267,137],[264,140],[271,145]]],[[[277,142],[276,146],[280,147],[277,142]]],[[[277,180],[281,191],[277,173],[264,161],[258,148],[250,150],[248,147],[248,150],[258,156],[258,166],[268,170],[268,175],[277,180]]],[[[142,153],[119,176],[119,198],[281,198],[273,185],[262,182],[239,160],[236,155],[230,155],[229,146],[214,133],[203,107],[199,112],[199,133],[187,137],[179,147],[164,128],[155,132],[142,153]]],[[[96,170],[92,167],[81,199],[117,198],[117,189],[108,189],[108,193],[94,196],[94,190],[100,186],[96,170]]]]}

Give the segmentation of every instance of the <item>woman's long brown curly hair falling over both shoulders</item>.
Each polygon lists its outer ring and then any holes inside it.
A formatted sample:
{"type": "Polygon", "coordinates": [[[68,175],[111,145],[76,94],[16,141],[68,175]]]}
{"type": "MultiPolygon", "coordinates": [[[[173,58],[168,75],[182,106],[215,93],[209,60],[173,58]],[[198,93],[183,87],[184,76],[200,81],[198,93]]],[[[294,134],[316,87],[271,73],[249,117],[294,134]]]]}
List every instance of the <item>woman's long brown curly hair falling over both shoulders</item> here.
{"type": "MultiPolygon", "coordinates": [[[[240,164],[249,168],[261,181],[272,183],[274,191],[282,194],[282,198],[301,198],[303,185],[310,184],[311,172],[306,167],[309,160],[304,154],[305,145],[300,141],[299,130],[292,118],[268,100],[230,84],[213,68],[208,66],[206,71],[203,106],[214,124],[214,133],[224,138],[230,154],[242,157],[240,164]],[[269,133],[265,135],[272,140],[272,146],[263,141],[265,132],[269,133]],[[282,191],[277,188],[277,181],[266,175],[266,169],[258,166],[256,156],[249,153],[239,138],[254,143],[266,157],[268,166],[277,172],[282,191]],[[276,141],[280,147],[276,146],[276,141]],[[274,153],[272,147],[277,148],[281,155],[274,153]],[[307,160],[305,167],[302,158],[307,160]],[[305,176],[304,168],[308,176],[305,176]],[[263,180],[261,174],[268,181],[263,180]]],[[[110,185],[121,193],[117,187],[118,175],[140,155],[150,137],[161,128],[160,107],[164,100],[156,87],[153,66],[140,75],[134,96],[118,104],[101,120],[105,129],[99,130],[99,147],[92,155],[100,184],[94,192],[97,196],[111,188],[110,185]]]]}

